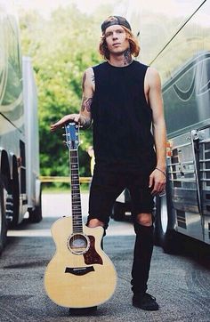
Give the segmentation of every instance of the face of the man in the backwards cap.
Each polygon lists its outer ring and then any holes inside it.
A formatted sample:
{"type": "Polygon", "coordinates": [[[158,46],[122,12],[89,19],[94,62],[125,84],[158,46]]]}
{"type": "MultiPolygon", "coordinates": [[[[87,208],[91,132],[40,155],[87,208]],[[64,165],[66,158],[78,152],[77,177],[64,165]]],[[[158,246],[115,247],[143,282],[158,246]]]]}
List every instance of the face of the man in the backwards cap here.
{"type": "Polygon", "coordinates": [[[109,52],[112,54],[122,54],[130,47],[126,39],[125,29],[119,25],[113,25],[106,28],[105,38],[109,52]]]}

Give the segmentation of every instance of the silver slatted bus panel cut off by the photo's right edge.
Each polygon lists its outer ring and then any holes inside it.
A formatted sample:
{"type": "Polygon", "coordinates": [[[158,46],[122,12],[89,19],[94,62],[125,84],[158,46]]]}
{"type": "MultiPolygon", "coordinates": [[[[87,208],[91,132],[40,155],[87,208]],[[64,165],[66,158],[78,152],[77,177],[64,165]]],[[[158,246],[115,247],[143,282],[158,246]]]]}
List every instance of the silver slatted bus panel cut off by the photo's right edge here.
{"type": "Polygon", "coordinates": [[[203,240],[210,244],[210,125],[194,133],[198,143],[198,180],[202,208],[203,240]]]}

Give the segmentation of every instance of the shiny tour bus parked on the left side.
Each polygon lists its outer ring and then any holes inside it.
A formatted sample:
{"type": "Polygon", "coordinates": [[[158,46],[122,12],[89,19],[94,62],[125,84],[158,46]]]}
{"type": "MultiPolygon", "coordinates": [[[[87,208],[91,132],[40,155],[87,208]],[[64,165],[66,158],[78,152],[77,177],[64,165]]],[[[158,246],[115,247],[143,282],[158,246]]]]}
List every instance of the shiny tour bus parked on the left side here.
{"type": "Polygon", "coordinates": [[[0,252],[27,211],[41,221],[36,84],[15,12],[0,0],[0,252]]]}

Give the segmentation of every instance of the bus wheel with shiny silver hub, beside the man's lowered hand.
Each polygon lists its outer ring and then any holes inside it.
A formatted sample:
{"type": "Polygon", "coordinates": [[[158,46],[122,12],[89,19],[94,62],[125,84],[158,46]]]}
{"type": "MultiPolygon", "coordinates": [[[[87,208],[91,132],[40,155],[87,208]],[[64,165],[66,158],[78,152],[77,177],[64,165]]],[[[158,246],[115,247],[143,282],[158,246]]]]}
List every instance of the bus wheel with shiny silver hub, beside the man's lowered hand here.
{"type": "Polygon", "coordinates": [[[158,245],[163,247],[165,253],[177,253],[177,236],[175,230],[172,228],[172,218],[170,218],[167,212],[166,196],[157,197],[155,229],[158,245]]]}

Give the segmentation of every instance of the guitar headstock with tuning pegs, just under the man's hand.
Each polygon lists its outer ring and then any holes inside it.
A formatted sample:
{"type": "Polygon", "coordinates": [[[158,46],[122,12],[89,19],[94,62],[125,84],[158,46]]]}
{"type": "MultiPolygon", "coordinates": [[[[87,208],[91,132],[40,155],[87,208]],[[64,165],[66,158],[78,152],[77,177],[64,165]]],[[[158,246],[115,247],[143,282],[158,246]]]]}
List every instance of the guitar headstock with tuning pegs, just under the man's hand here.
{"type": "Polygon", "coordinates": [[[78,149],[79,146],[79,125],[75,122],[69,122],[65,125],[66,144],[69,150],[78,149]]]}

